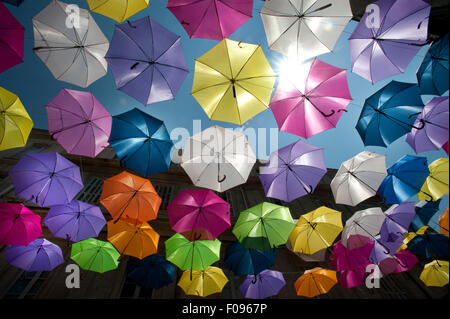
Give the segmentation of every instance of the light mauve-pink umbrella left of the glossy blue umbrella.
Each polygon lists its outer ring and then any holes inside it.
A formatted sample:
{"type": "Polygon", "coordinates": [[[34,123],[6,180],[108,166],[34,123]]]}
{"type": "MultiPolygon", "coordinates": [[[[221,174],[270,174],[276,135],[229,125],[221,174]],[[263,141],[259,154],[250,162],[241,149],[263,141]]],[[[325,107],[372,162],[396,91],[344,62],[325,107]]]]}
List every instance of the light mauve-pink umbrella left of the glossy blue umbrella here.
{"type": "Polygon", "coordinates": [[[62,89],[46,109],[48,132],[67,153],[96,157],[109,145],[111,115],[92,93],[62,89]]]}

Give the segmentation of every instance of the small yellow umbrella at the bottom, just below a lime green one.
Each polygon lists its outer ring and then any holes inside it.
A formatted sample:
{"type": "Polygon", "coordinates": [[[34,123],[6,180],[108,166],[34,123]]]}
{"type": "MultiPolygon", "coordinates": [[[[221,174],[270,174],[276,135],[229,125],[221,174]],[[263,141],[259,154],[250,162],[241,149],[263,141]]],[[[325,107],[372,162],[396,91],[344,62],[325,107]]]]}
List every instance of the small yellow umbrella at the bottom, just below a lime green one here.
{"type": "Polygon", "coordinates": [[[205,270],[193,270],[183,272],[178,286],[183,289],[186,295],[206,297],[222,291],[227,284],[228,278],[222,269],[217,267],[208,267],[205,270]]]}

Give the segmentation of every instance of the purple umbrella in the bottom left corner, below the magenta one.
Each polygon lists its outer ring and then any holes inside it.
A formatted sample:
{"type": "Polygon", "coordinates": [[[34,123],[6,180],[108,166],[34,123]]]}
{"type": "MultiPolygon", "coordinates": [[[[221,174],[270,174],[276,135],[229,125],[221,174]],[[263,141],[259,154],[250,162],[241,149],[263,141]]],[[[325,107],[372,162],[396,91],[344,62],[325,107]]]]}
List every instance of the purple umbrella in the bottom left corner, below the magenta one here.
{"type": "Polygon", "coordinates": [[[64,262],[59,246],[38,238],[27,246],[8,246],[5,256],[12,266],[25,271],[51,271],[64,262]]]}

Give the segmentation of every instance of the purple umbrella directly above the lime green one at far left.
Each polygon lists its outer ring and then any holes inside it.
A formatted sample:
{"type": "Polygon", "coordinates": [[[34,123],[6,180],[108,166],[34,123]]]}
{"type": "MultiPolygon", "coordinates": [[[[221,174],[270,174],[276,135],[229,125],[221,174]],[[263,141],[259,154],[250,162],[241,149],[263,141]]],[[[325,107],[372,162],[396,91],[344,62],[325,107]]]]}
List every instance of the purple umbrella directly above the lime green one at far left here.
{"type": "Polygon", "coordinates": [[[44,223],[53,236],[78,242],[97,237],[106,220],[97,206],[74,200],[65,205],[52,206],[44,223]]]}

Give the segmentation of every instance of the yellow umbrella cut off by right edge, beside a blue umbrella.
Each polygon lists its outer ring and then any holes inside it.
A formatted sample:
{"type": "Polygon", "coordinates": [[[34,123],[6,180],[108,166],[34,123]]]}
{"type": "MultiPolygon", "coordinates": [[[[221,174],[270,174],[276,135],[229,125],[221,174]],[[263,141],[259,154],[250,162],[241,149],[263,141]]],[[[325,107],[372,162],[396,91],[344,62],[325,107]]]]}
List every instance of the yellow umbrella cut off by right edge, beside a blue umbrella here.
{"type": "Polygon", "coordinates": [[[448,193],[448,158],[437,159],[428,168],[430,175],[417,194],[417,198],[435,202],[448,193]]]}

